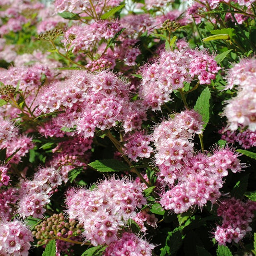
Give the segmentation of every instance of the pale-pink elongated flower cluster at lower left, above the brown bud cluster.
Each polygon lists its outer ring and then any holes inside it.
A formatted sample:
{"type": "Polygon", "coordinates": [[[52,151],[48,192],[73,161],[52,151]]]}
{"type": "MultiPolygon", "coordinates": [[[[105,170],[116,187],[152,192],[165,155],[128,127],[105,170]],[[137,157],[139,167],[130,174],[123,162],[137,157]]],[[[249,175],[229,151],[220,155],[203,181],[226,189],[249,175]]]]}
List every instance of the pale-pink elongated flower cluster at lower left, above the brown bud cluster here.
{"type": "Polygon", "coordinates": [[[32,181],[21,183],[18,213],[21,217],[43,218],[44,206],[57,186],[61,185],[61,176],[53,168],[41,168],[32,181]]]}

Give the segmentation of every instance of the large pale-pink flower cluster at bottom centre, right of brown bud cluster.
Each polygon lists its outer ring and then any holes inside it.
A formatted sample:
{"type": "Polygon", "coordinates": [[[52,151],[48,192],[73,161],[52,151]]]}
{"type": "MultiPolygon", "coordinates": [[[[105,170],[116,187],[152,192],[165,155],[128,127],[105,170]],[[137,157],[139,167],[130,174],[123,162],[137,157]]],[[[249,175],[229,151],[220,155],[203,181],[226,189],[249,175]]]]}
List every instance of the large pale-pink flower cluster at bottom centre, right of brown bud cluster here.
{"type": "Polygon", "coordinates": [[[128,178],[105,180],[93,190],[71,189],[66,198],[70,218],[83,224],[83,235],[95,246],[118,241],[119,230],[145,204],[142,188],[128,178]]]}

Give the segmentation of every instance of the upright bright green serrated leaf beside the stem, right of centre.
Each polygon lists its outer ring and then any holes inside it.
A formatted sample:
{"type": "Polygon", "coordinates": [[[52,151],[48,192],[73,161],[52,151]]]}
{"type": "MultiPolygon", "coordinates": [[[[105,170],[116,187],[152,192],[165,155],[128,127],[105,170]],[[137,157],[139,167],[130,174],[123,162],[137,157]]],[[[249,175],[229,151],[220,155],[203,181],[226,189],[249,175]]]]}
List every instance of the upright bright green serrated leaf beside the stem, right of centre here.
{"type": "Polygon", "coordinates": [[[211,93],[208,87],[206,87],[201,95],[197,98],[194,110],[202,116],[204,122],[203,127],[206,128],[210,118],[210,98],[211,93]]]}

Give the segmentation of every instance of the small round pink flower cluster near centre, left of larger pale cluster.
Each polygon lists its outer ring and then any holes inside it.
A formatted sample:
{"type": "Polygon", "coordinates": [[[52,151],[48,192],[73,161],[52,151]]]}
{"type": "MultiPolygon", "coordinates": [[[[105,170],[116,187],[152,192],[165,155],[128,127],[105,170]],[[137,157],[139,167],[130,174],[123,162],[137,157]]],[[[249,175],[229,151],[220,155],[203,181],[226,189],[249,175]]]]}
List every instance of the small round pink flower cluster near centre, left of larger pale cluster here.
{"type": "Polygon", "coordinates": [[[125,144],[123,153],[137,162],[138,158],[150,158],[153,148],[149,146],[151,137],[143,131],[136,131],[134,134],[127,134],[124,138],[125,144]]]}

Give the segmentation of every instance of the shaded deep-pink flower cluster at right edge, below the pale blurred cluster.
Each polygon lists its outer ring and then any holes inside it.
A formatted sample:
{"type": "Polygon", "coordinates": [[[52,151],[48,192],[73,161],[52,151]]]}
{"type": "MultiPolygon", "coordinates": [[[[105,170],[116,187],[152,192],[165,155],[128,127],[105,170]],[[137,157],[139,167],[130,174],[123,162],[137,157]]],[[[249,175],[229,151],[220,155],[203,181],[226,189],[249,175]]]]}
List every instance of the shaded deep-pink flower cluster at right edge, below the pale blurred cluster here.
{"type": "Polygon", "coordinates": [[[230,131],[226,130],[225,127],[223,127],[221,130],[219,130],[219,134],[222,134],[222,140],[225,140],[228,143],[238,143],[245,149],[256,146],[256,132],[252,132],[248,129],[245,131],[230,131]]]}

